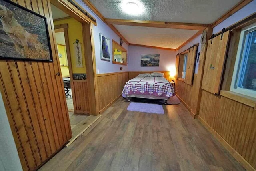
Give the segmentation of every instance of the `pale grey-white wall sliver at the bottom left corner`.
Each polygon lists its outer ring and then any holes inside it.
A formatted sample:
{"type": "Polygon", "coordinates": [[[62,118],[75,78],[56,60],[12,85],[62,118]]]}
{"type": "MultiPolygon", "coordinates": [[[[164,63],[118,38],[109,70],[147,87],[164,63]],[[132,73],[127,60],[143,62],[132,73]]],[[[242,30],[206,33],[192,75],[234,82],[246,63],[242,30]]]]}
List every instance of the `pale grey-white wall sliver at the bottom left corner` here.
{"type": "Polygon", "coordinates": [[[0,171],[22,171],[0,92],[0,171]]]}

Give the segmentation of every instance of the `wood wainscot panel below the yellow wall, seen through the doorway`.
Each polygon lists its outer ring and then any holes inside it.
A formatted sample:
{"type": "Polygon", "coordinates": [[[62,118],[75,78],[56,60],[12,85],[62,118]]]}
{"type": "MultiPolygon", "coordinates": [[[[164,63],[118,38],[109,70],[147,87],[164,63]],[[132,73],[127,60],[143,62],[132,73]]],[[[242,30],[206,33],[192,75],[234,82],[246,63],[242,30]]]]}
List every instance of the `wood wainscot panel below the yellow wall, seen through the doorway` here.
{"type": "Polygon", "coordinates": [[[75,105],[76,113],[90,113],[90,105],[88,98],[88,87],[85,80],[73,80],[72,93],[75,93],[75,105]]]}

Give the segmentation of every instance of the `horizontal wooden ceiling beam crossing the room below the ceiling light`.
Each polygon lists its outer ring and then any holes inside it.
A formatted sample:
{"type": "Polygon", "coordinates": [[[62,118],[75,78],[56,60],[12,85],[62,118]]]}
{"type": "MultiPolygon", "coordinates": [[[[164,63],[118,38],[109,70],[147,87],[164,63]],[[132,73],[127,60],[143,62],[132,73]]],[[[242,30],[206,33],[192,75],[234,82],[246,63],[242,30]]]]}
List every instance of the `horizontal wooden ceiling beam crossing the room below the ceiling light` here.
{"type": "Polygon", "coordinates": [[[108,24],[126,25],[126,26],[142,26],[156,28],[176,28],[187,30],[204,30],[208,24],[181,23],[181,22],[158,22],[144,20],[122,20],[122,19],[105,19],[108,24]]]}

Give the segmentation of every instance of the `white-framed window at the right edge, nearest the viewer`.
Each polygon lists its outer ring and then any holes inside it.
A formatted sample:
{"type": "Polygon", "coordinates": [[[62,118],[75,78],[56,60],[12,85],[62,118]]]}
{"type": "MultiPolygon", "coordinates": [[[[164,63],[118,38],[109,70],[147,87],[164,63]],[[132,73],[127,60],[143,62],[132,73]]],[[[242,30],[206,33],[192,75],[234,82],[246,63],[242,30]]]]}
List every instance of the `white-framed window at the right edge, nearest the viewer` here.
{"type": "Polygon", "coordinates": [[[256,97],[256,24],[241,31],[230,90],[256,97]]]}

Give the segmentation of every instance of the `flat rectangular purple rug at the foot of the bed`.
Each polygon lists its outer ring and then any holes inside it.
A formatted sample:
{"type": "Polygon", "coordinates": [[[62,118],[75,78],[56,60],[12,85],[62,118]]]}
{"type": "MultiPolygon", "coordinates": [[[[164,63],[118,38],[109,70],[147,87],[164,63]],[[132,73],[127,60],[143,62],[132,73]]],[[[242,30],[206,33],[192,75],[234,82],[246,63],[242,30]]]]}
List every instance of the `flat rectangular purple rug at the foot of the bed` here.
{"type": "Polygon", "coordinates": [[[164,109],[162,105],[149,104],[149,103],[131,102],[130,105],[127,107],[127,110],[139,111],[139,112],[145,112],[145,113],[164,114],[164,109]]]}

